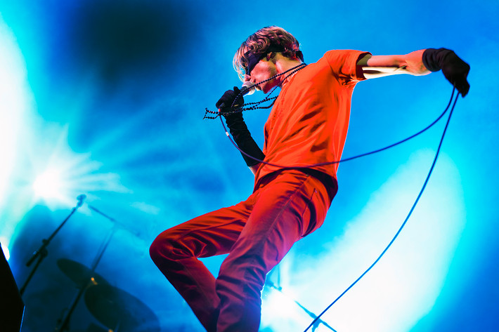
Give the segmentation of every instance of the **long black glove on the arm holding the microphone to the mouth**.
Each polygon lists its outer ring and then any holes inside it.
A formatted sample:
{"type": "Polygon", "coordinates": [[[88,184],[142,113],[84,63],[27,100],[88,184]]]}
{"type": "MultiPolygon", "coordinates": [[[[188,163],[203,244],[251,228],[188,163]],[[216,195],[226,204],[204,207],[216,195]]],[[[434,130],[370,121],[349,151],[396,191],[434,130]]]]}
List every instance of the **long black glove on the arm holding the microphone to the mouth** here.
{"type": "MultiPolygon", "coordinates": [[[[219,108],[220,111],[223,112],[232,112],[231,105],[233,100],[238,96],[240,90],[237,86],[234,86],[234,90],[227,90],[223,93],[222,97],[216,102],[216,108],[219,108]]],[[[235,102],[234,107],[242,107],[245,101],[242,98],[238,98],[237,102],[235,102]]],[[[261,152],[257,142],[255,142],[251,136],[250,131],[248,130],[244,119],[242,119],[242,112],[235,112],[233,114],[223,115],[226,119],[226,124],[228,126],[229,131],[231,132],[232,137],[234,138],[235,144],[250,156],[255,157],[259,160],[263,160],[265,158],[264,152],[261,152]]],[[[259,161],[247,157],[245,154],[242,154],[242,158],[245,159],[247,166],[254,166],[259,163],[259,161]]]]}

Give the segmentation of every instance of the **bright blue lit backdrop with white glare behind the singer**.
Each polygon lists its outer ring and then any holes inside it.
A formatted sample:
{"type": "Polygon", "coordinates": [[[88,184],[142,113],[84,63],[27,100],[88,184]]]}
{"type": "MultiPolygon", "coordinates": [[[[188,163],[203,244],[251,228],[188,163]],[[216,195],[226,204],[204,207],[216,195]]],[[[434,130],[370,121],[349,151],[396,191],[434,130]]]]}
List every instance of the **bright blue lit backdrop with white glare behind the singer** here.
{"type": "MultiPolygon", "coordinates": [[[[22,331],[56,327],[77,293],[58,260],[90,267],[109,234],[96,272],[152,310],[162,331],[202,331],[148,247],[162,230],[252,192],[253,176],[219,121],[202,117],[240,84],[235,50],[268,25],[294,34],[306,62],[335,48],[389,55],[446,47],[471,65],[469,95],[458,100],[408,225],[323,319],[339,332],[496,331],[498,8],[490,0],[2,2],[0,241],[20,286],[41,239],[86,194],[26,288],[22,331]]],[[[451,90],[441,72],[361,82],[343,156],[419,131],[451,90]]],[[[259,145],[267,115],[245,114],[259,145]]],[[[339,166],[325,224],[268,276],[261,331],[304,331],[311,318],[294,301],[321,312],[375,260],[417,197],[442,131],[443,121],[339,166]]],[[[216,274],[221,260],[205,263],[216,274]]],[[[104,327],[79,301],[71,331],[96,326],[104,327]]]]}

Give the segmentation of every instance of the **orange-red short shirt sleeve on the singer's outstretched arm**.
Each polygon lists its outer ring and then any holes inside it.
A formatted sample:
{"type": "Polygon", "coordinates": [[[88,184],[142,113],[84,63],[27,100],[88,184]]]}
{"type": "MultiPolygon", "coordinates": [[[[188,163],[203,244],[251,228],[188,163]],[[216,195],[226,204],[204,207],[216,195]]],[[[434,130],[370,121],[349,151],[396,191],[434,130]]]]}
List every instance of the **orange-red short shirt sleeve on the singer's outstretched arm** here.
{"type": "Polygon", "coordinates": [[[325,58],[328,60],[332,74],[337,77],[342,84],[356,84],[358,81],[363,81],[365,77],[361,72],[357,71],[358,59],[369,52],[354,51],[354,50],[332,50],[325,53],[325,58]]]}

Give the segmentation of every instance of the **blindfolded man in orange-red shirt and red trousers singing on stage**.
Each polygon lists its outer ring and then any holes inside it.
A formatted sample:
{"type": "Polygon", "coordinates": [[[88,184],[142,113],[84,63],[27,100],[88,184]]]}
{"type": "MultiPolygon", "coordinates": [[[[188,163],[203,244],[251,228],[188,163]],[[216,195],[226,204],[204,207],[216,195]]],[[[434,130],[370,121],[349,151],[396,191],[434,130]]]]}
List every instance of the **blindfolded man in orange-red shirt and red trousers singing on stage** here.
{"type": "Polygon", "coordinates": [[[242,43],[234,66],[243,81],[268,93],[280,87],[265,126],[263,152],[242,115],[238,88],[216,107],[255,175],[253,194],[235,206],[162,232],[150,247],[155,264],[209,332],[256,332],[266,274],[295,241],[322,225],[337,192],[338,164],[358,81],[390,74],[443,74],[464,96],[469,66],[453,51],[407,55],[329,51],[305,65],[298,41],[279,27],[259,29],[242,43]],[[264,161],[264,162],[260,162],[264,161]],[[322,164],[321,164],[322,163],[322,164]],[[197,258],[228,253],[215,278],[197,258]]]}

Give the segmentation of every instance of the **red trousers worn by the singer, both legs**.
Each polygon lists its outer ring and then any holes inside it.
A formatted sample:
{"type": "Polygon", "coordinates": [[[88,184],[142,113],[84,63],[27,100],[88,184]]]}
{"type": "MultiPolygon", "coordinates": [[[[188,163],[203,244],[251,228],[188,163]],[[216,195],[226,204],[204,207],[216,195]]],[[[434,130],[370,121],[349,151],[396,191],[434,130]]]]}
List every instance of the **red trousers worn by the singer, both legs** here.
{"type": "Polygon", "coordinates": [[[151,258],[208,332],[257,332],[266,274],[322,225],[330,196],[301,171],[267,175],[246,201],[162,232],[151,258]],[[216,279],[197,259],[224,253],[216,279]]]}

